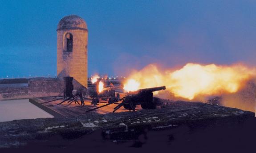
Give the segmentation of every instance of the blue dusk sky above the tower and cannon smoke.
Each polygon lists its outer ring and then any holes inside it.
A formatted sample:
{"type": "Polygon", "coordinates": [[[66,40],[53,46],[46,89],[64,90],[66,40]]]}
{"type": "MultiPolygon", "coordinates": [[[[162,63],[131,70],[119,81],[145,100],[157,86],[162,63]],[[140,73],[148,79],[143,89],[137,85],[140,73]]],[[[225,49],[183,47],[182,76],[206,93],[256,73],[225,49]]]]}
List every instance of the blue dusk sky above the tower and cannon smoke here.
{"type": "Polygon", "coordinates": [[[56,76],[57,24],[87,23],[88,71],[256,65],[255,0],[0,0],[0,78],[56,76]]]}

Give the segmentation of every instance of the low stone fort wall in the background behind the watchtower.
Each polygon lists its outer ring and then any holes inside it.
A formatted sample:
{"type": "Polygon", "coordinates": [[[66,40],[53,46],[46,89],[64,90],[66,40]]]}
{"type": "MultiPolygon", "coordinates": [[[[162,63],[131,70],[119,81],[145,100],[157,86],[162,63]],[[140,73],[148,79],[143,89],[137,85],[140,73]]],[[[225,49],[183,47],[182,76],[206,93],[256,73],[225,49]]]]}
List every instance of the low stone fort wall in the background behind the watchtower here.
{"type": "MultiPolygon", "coordinates": [[[[88,93],[96,90],[95,84],[88,81],[88,93]]],[[[106,84],[113,83],[120,86],[120,80],[107,80],[106,84]]],[[[73,80],[74,89],[79,89],[82,85],[73,80]]],[[[63,93],[64,82],[59,78],[21,78],[0,80],[0,100],[37,98],[57,96],[63,93]],[[25,84],[25,86],[24,86],[25,84]],[[22,86],[20,86],[22,85],[22,86]]]]}

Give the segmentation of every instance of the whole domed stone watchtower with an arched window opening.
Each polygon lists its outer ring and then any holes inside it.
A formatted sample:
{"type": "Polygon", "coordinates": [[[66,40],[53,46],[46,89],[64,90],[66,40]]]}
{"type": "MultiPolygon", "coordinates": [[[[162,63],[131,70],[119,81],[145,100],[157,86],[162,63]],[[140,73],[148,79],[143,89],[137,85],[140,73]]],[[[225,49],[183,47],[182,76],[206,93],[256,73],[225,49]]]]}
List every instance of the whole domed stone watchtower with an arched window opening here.
{"type": "Polygon", "coordinates": [[[57,27],[57,77],[73,77],[87,88],[88,30],[85,20],[65,16],[57,27]]]}

